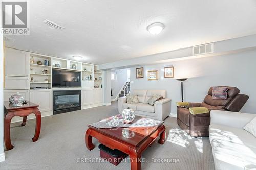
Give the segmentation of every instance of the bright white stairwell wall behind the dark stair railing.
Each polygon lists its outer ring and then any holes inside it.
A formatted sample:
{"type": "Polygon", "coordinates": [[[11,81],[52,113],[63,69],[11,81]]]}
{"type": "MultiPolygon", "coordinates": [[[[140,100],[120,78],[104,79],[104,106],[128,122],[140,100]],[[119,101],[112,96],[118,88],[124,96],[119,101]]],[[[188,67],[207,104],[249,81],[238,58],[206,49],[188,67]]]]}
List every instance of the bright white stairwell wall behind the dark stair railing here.
{"type": "Polygon", "coordinates": [[[117,69],[111,72],[116,73],[116,80],[111,80],[111,89],[113,96],[111,99],[115,99],[123,84],[127,81],[127,70],[126,69],[117,69]]]}

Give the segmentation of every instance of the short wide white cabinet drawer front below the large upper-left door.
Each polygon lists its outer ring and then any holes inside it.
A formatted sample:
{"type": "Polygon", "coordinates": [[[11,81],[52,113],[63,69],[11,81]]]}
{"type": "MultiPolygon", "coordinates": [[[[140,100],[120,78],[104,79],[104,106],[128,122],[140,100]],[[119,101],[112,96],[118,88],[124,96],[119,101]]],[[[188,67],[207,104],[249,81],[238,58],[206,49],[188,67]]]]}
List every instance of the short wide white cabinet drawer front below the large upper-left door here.
{"type": "Polygon", "coordinates": [[[5,90],[29,89],[29,77],[5,76],[5,90]]]}

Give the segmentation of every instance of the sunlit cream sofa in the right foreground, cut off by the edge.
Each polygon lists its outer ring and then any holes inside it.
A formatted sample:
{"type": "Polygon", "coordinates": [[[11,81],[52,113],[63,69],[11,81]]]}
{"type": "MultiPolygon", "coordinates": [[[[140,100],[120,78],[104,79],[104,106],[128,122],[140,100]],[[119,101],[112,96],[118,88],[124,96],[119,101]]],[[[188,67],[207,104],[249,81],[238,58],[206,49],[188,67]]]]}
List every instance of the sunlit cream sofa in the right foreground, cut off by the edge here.
{"type": "Polygon", "coordinates": [[[211,110],[209,139],[215,169],[256,169],[256,137],[243,129],[255,116],[211,110]]]}

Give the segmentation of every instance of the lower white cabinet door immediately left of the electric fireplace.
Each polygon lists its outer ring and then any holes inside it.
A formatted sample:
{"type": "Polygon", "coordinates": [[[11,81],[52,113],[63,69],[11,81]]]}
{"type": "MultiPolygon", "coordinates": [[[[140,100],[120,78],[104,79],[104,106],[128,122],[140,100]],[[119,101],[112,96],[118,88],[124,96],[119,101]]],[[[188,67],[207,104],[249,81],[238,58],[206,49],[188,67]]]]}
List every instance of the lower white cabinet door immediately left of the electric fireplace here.
{"type": "Polygon", "coordinates": [[[41,112],[52,111],[52,90],[30,90],[30,102],[39,105],[41,112]]]}

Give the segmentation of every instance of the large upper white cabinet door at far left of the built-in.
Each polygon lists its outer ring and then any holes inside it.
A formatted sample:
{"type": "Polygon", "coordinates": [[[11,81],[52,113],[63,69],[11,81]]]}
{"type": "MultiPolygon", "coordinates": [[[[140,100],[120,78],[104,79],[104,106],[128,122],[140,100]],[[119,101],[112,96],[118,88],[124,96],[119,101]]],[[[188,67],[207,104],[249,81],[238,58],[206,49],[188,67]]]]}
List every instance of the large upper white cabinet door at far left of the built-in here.
{"type": "Polygon", "coordinates": [[[5,48],[5,76],[29,77],[29,53],[5,48]]]}

